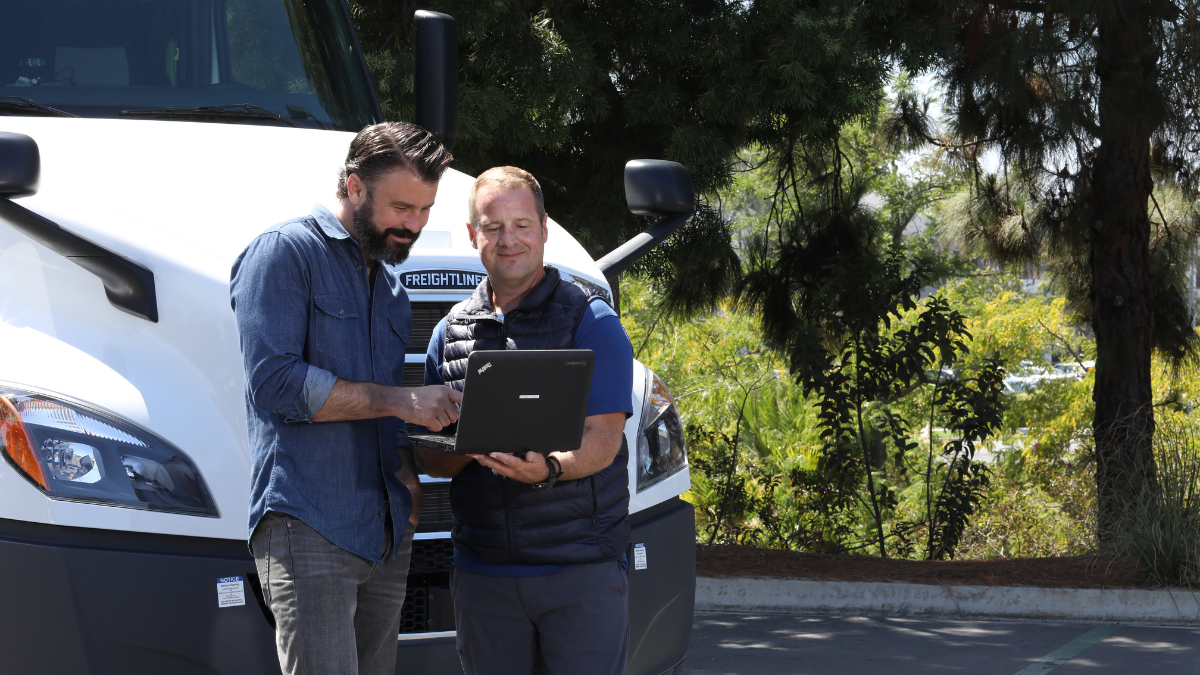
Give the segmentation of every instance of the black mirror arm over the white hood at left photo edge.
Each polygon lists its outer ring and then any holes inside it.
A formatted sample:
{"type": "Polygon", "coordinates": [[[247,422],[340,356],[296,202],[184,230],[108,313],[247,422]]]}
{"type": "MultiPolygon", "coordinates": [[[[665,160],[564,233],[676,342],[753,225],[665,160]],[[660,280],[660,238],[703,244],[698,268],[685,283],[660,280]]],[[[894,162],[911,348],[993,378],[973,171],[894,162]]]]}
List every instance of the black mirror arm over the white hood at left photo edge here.
{"type": "Polygon", "coordinates": [[[145,267],[5,197],[0,197],[0,221],[98,276],[114,307],[158,323],[154,273],[145,267]]]}

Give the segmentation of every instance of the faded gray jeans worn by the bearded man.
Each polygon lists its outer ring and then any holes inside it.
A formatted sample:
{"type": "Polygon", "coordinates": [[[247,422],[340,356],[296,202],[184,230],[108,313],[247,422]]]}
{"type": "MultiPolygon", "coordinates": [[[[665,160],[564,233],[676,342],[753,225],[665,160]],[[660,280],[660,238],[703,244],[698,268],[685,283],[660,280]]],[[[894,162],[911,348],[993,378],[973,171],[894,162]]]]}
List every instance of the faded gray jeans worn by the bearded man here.
{"type": "Polygon", "coordinates": [[[413,530],[394,560],[377,563],[290,515],[258,521],[250,550],[286,675],[395,675],[413,530]]]}

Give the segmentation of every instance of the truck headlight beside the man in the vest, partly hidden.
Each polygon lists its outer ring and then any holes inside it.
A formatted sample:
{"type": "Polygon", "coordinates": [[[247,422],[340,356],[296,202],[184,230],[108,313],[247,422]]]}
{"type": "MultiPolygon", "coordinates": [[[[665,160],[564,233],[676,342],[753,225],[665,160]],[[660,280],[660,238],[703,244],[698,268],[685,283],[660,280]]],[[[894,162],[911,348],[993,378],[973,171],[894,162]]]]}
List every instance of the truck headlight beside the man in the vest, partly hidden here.
{"type": "Polygon", "coordinates": [[[646,370],[649,380],[642,404],[642,432],[637,435],[637,490],[642,491],[688,466],[683,420],[666,383],[646,370]]]}

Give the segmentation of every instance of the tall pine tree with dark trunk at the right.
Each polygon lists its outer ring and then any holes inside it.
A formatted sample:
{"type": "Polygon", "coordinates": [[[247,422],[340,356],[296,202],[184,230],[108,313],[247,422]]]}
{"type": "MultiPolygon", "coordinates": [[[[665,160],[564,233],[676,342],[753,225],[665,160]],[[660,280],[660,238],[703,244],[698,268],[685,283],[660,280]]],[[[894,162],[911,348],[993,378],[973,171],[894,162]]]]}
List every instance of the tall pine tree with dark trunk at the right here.
{"type": "Polygon", "coordinates": [[[1092,325],[1103,532],[1135,484],[1153,484],[1151,351],[1178,358],[1196,340],[1178,283],[1196,231],[1196,10],[943,2],[928,14],[946,26],[929,66],[949,129],[932,132],[914,98],[893,126],[973,175],[958,209],[964,238],[1000,262],[1048,265],[1092,325]],[[989,151],[998,173],[982,169],[989,151]]]}

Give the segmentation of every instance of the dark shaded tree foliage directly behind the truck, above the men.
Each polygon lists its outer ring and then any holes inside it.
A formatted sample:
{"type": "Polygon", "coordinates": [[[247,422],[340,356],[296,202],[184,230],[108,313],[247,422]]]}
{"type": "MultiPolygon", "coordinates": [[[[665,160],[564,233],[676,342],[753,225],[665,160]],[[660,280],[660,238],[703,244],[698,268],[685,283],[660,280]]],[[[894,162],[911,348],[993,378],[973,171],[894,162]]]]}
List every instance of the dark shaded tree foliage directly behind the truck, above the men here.
{"type": "MultiPolygon", "coordinates": [[[[390,119],[412,117],[415,8],[352,1],[390,119]]],[[[548,211],[593,255],[647,225],[625,209],[626,161],[682,162],[697,192],[713,195],[730,184],[739,149],[790,157],[872,113],[889,73],[882,56],[900,44],[917,53],[937,32],[893,4],[847,0],[432,0],[421,8],[458,20],[458,168],[527,168],[548,211]]],[[[700,214],[641,267],[659,270],[659,295],[674,312],[712,306],[737,276],[725,221],[706,202],[700,214]]]]}

